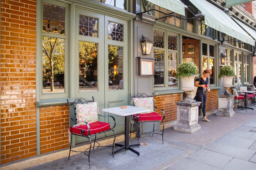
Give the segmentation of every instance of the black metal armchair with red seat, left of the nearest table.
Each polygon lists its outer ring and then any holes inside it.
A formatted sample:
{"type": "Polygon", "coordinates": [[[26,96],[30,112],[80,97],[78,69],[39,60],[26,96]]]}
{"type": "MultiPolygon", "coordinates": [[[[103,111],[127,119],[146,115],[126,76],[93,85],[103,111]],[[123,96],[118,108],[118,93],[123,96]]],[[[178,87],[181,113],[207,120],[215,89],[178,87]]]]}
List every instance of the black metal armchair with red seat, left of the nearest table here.
{"type": "Polygon", "coordinates": [[[116,132],[113,130],[113,128],[115,128],[115,126],[116,126],[116,121],[115,121],[114,117],[100,115],[99,114],[99,103],[95,102],[93,97],[92,97],[92,100],[85,100],[84,98],[80,98],[80,99],[77,98],[73,102],[71,102],[71,101],[69,101],[69,99],[67,99],[67,102],[68,102],[68,106],[69,106],[69,116],[70,116],[69,132],[71,133],[68,159],[70,157],[71,151],[84,152],[84,154],[86,156],[88,156],[89,168],[91,169],[90,153],[92,150],[100,147],[99,142],[96,141],[96,136],[98,134],[102,134],[102,133],[105,133],[108,131],[112,131],[115,135],[113,145],[112,145],[112,155],[114,157],[113,151],[114,151],[114,143],[115,143],[115,139],[116,139],[116,132]],[[114,126],[112,128],[110,128],[110,123],[100,122],[99,116],[112,118],[114,121],[114,126]],[[90,141],[90,147],[84,151],[71,150],[73,135],[78,135],[78,136],[88,138],[90,141]],[[93,146],[92,146],[92,141],[91,141],[92,137],[94,137],[93,146]],[[95,143],[97,143],[97,146],[95,146],[95,143]]]}

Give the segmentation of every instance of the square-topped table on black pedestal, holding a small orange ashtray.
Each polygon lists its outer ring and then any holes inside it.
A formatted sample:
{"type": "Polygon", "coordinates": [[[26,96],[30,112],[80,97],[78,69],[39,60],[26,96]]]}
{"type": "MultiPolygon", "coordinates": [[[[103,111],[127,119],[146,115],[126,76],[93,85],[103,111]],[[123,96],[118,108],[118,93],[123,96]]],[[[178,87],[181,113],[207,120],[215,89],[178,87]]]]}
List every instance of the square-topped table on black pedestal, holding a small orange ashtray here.
{"type": "Polygon", "coordinates": [[[113,154],[116,152],[119,152],[123,149],[125,149],[125,150],[129,149],[139,156],[140,153],[138,151],[132,149],[131,147],[139,146],[140,143],[129,144],[129,116],[139,114],[139,113],[147,113],[150,111],[150,109],[145,109],[145,108],[140,108],[140,107],[135,107],[135,106],[127,106],[127,108],[124,108],[124,109],[121,107],[114,107],[114,108],[102,109],[102,111],[125,117],[124,144],[115,143],[115,146],[119,146],[120,148],[114,150],[113,154]]]}

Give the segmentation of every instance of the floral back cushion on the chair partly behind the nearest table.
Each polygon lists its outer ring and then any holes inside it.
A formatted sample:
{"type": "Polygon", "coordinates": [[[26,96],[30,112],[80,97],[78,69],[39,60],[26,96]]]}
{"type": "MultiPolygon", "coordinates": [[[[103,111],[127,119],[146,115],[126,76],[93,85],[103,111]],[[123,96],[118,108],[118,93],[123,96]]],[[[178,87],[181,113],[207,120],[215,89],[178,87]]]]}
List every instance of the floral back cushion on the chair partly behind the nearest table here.
{"type": "Polygon", "coordinates": [[[134,106],[150,109],[150,112],[154,112],[154,98],[146,97],[146,98],[133,98],[134,106]]]}

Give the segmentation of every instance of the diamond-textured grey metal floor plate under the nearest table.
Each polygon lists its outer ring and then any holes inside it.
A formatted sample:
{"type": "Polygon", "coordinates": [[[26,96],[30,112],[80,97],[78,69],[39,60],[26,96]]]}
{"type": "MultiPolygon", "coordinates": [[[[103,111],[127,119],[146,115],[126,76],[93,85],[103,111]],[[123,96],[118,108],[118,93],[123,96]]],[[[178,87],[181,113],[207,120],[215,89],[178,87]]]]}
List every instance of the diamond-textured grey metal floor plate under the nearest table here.
{"type": "MultiPolygon", "coordinates": [[[[137,142],[137,138],[130,140],[130,143],[135,142],[137,142]]],[[[140,156],[130,150],[122,150],[113,157],[111,147],[103,147],[91,152],[90,159],[111,170],[149,170],[185,152],[162,144],[161,141],[150,140],[150,138],[147,140],[140,138],[139,142],[143,142],[143,145],[132,148],[140,152],[140,156]],[[147,144],[145,145],[145,143],[147,144]]],[[[119,143],[123,144],[122,142],[119,143]]],[[[114,149],[117,148],[119,147],[114,147],[114,149]]]]}

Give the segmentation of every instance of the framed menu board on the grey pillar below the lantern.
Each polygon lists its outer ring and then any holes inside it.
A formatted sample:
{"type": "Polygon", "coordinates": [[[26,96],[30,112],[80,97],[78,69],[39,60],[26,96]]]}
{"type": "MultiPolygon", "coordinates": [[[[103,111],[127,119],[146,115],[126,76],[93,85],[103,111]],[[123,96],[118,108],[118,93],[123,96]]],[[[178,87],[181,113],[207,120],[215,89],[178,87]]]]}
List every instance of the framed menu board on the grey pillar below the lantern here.
{"type": "Polygon", "coordinates": [[[138,75],[153,76],[154,60],[154,58],[138,57],[138,75]]]}

